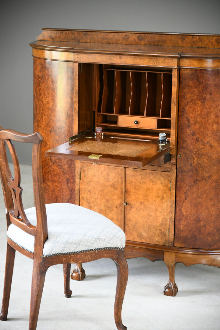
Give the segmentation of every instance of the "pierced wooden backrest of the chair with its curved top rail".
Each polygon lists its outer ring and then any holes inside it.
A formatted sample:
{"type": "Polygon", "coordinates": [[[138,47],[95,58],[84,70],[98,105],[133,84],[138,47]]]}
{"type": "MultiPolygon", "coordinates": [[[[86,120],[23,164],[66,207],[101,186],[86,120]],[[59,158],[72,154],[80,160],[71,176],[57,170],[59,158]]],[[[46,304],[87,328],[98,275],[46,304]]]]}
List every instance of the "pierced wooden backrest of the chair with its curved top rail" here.
{"type": "Polygon", "coordinates": [[[13,130],[0,131],[0,171],[3,187],[5,207],[7,210],[7,228],[13,223],[26,233],[35,236],[36,249],[42,255],[43,244],[47,239],[47,220],[42,190],[42,172],[41,172],[41,143],[43,138],[40,133],[22,134],[13,130]],[[23,208],[22,187],[20,187],[21,175],[18,157],[13,145],[13,141],[32,143],[32,169],[33,169],[33,189],[34,202],[36,206],[37,225],[32,225],[23,208]],[[8,158],[6,154],[6,145],[11,154],[14,167],[14,178],[10,171],[8,158]],[[38,170],[39,169],[39,170],[38,170]],[[10,190],[10,191],[9,191],[10,190]]]}

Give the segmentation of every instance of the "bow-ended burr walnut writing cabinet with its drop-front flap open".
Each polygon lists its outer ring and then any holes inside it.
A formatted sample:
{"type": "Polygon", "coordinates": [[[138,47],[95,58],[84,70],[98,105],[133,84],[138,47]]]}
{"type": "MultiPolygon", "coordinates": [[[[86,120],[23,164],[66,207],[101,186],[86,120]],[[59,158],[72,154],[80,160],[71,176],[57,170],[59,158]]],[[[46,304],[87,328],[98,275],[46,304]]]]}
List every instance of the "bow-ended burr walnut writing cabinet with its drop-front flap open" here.
{"type": "Polygon", "coordinates": [[[127,258],[166,263],[165,295],[178,262],[220,267],[220,35],[44,28],[30,45],[46,202],[112,219],[127,258]]]}

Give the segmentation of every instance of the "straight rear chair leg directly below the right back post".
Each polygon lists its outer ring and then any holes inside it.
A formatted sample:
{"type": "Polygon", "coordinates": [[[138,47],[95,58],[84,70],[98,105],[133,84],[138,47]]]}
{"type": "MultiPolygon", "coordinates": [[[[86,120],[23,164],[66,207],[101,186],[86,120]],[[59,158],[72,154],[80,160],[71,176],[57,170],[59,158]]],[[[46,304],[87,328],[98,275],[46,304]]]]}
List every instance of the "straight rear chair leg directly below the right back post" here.
{"type": "Polygon", "coordinates": [[[36,330],[37,328],[46,271],[47,268],[43,267],[38,259],[34,259],[31,284],[29,330],[36,330]]]}

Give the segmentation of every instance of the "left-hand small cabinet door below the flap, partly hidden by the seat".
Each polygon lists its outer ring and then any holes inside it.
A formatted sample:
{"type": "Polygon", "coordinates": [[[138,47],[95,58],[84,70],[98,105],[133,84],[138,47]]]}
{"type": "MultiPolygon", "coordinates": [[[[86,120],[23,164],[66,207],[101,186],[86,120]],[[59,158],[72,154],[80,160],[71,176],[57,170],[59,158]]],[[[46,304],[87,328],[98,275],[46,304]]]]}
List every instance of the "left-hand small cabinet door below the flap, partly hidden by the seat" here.
{"type": "Polygon", "coordinates": [[[80,163],[80,206],[124,229],[124,167],[80,163]]]}

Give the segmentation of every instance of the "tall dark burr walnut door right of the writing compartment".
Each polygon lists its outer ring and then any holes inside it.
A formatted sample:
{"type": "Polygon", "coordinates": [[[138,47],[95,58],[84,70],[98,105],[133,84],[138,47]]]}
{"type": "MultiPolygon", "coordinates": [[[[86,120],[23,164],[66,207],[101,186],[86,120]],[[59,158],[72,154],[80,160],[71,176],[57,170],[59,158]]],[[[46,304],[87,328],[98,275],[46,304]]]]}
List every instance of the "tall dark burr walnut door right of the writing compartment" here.
{"type": "Polygon", "coordinates": [[[219,100],[219,69],[180,70],[177,247],[220,248],[219,100]]]}

